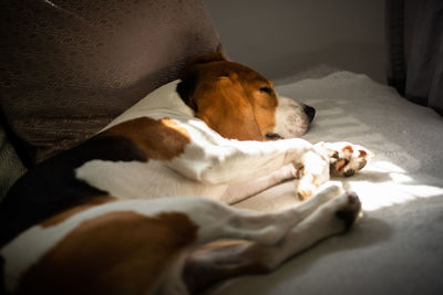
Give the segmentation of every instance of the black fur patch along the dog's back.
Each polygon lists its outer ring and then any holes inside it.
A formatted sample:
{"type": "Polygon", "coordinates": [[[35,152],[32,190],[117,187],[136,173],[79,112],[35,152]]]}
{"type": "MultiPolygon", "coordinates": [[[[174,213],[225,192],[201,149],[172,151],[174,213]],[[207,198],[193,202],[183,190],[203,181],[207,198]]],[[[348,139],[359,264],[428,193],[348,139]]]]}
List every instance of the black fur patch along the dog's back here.
{"type": "Polygon", "coordinates": [[[33,224],[107,192],[75,178],[74,169],[94,160],[146,161],[126,137],[95,136],[38,165],[0,202],[0,247],[33,224]]]}

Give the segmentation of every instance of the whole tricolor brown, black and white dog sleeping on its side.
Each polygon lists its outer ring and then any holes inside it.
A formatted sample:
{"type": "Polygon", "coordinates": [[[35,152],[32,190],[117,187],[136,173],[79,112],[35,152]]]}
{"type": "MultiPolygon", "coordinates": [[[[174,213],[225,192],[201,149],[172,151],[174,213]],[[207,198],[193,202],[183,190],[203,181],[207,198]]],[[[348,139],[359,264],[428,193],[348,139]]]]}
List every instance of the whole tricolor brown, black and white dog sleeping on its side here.
{"type": "Polygon", "coordinates": [[[360,201],[323,183],[363,168],[371,152],[297,138],[313,115],[219,52],[195,59],[179,81],[16,182],[0,204],[3,287],[193,294],[344,232],[360,201]],[[297,207],[229,207],[293,178],[306,199],[297,207]]]}

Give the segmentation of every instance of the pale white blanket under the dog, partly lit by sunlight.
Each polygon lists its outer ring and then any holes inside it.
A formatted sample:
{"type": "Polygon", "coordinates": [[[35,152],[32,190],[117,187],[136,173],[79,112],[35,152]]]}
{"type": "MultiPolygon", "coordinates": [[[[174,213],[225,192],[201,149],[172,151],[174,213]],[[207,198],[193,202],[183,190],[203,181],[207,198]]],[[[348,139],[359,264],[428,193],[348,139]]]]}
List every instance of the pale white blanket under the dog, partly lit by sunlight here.
{"type": "MultiPolygon", "coordinates": [[[[317,108],[306,139],[375,152],[358,175],[336,179],[360,196],[364,217],[272,274],[236,278],[208,294],[443,294],[443,118],[349,72],[277,91],[317,108]]],[[[287,182],[237,206],[270,211],[296,201],[287,182]]]]}

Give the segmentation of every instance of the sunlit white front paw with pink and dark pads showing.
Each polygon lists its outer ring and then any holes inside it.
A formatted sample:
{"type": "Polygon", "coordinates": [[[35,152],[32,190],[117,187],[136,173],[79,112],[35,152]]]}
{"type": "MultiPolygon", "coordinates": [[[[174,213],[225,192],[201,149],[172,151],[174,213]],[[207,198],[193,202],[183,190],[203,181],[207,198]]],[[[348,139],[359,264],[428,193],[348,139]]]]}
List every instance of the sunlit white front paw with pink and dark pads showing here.
{"type": "Polygon", "coordinates": [[[367,165],[368,159],[374,157],[374,154],[365,147],[346,141],[319,143],[315,148],[329,158],[331,176],[353,176],[367,165]]]}

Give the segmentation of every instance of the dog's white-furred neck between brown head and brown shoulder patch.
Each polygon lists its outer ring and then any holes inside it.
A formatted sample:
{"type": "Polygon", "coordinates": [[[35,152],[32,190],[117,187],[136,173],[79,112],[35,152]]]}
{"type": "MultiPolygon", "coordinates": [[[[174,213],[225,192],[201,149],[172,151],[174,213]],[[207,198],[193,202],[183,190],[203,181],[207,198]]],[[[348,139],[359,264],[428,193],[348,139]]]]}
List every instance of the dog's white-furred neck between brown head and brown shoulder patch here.
{"type": "Polygon", "coordinates": [[[179,82],[179,80],[175,80],[153,91],[122,115],[116,117],[104,127],[103,130],[125,120],[143,116],[148,116],[154,119],[164,117],[186,119],[194,117],[193,109],[183,102],[176,92],[179,82]]]}

